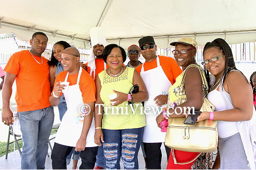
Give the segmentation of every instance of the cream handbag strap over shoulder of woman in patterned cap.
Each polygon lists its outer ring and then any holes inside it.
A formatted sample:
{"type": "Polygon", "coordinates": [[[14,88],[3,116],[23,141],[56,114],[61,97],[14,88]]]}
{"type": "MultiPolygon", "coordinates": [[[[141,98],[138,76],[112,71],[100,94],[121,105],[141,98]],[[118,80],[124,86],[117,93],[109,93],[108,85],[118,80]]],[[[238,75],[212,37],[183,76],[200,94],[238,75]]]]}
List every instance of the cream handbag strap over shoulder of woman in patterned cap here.
{"type": "Polygon", "coordinates": [[[183,73],[183,76],[182,76],[182,80],[181,80],[181,84],[180,84],[180,89],[179,89],[179,96],[178,96],[178,98],[181,98],[181,96],[185,94],[185,90],[184,90],[185,76],[186,76],[187,69],[190,68],[190,67],[196,67],[196,68],[198,68],[198,70],[199,70],[199,72],[200,72],[201,79],[202,79],[202,91],[203,91],[203,94],[204,94],[204,97],[205,97],[205,96],[207,95],[207,93],[208,93],[208,84],[207,84],[206,78],[205,78],[205,76],[203,76],[203,73],[202,73],[202,71],[200,70],[200,68],[199,68],[198,65],[196,65],[196,64],[190,64],[190,65],[187,66],[187,68],[184,70],[184,73],[183,73]]]}

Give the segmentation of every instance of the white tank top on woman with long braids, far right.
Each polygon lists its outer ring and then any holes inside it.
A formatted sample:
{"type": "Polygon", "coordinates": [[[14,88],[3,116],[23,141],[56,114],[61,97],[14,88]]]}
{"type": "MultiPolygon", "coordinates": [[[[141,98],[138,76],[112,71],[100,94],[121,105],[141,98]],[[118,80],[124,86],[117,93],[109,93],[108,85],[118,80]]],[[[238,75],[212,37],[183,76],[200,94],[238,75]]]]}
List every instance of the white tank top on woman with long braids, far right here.
{"type": "MultiPolygon", "coordinates": [[[[217,90],[218,87],[208,93],[207,99],[215,106],[216,111],[227,110],[228,108],[222,98],[221,92],[217,90]]],[[[239,132],[237,128],[237,122],[226,122],[218,120],[217,128],[220,138],[229,137],[239,132]]]]}

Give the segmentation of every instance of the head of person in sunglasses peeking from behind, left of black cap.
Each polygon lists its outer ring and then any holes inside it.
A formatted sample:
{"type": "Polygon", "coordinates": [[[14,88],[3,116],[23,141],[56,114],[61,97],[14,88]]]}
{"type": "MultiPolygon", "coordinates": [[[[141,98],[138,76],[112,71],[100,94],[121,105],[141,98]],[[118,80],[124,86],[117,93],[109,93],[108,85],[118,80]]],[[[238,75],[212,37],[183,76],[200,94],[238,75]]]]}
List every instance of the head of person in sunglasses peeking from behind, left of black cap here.
{"type": "Polygon", "coordinates": [[[137,45],[133,44],[129,46],[127,49],[127,52],[128,52],[128,57],[130,59],[130,61],[126,65],[127,67],[137,68],[140,64],[142,64],[139,61],[140,48],[137,45]]]}

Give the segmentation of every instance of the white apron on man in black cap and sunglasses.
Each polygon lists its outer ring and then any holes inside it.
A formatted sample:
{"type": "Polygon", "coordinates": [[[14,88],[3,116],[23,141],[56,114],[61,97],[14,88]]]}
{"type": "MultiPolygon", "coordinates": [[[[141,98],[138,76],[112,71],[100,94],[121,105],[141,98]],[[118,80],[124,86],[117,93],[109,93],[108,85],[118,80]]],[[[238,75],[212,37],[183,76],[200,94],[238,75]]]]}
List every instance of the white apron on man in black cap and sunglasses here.
{"type": "MultiPolygon", "coordinates": [[[[145,101],[144,108],[154,107],[156,110],[157,105],[155,104],[156,101],[154,101],[154,99],[160,94],[168,94],[169,88],[172,86],[160,66],[159,57],[157,57],[156,68],[144,71],[143,63],[140,76],[142,77],[148,91],[148,100],[145,101]]],[[[161,106],[159,109],[163,107],[166,107],[166,105],[161,106]]],[[[146,110],[145,114],[146,126],[144,127],[143,142],[164,142],[166,132],[161,132],[161,129],[157,126],[156,117],[158,116],[158,112],[155,114],[154,109],[151,109],[146,110]]]]}

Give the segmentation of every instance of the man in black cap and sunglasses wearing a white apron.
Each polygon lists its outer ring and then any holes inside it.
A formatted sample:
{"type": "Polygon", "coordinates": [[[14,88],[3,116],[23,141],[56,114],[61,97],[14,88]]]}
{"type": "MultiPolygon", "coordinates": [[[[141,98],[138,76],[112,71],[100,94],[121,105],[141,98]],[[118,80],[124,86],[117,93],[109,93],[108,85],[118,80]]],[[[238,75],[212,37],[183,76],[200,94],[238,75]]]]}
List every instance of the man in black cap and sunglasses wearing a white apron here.
{"type": "MultiPolygon", "coordinates": [[[[156,117],[161,113],[161,108],[166,107],[168,90],[182,71],[173,58],[156,55],[157,45],[152,36],[141,38],[139,46],[145,63],[138,66],[136,70],[140,72],[149,97],[144,103],[146,126],[143,134],[147,169],[161,169],[160,148],[166,133],[158,128],[156,117]]],[[[170,149],[165,147],[165,151],[168,159],[170,149]]]]}

